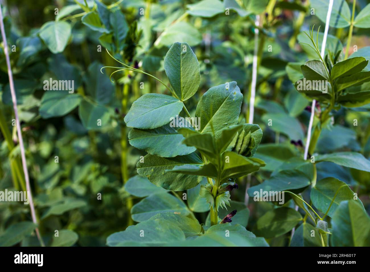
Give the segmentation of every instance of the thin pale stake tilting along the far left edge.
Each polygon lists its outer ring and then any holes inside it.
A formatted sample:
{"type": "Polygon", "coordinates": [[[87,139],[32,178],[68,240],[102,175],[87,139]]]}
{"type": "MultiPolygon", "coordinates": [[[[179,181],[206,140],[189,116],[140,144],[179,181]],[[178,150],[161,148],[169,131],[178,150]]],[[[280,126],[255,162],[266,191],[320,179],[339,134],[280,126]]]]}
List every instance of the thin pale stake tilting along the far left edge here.
{"type": "MultiPolygon", "coordinates": [[[[24,179],[26,181],[27,195],[28,195],[28,199],[30,200],[30,209],[31,209],[32,221],[34,222],[34,224],[37,224],[35,206],[33,204],[32,193],[31,193],[30,178],[28,176],[26,153],[24,152],[23,138],[22,138],[21,126],[20,126],[20,122],[19,122],[19,115],[18,115],[18,108],[17,108],[17,97],[16,97],[16,91],[14,89],[13,73],[11,72],[11,65],[10,65],[10,58],[9,58],[9,51],[8,51],[8,43],[7,43],[7,40],[6,40],[6,35],[5,35],[5,30],[4,30],[3,10],[1,9],[1,4],[0,4],[0,28],[1,28],[1,36],[3,37],[4,54],[5,54],[6,65],[7,65],[7,69],[8,69],[11,100],[13,101],[14,115],[16,117],[16,127],[17,127],[17,134],[18,134],[18,140],[19,140],[19,147],[20,147],[20,150],[21,150],[21,158],[22,158],[24,179]]],[[[35,230],[36,230],[36,235],[37,235],[38,241],[40,241],[41,246],[45,246],[44,242],[43,242],[43,240],[40,236],[40,232],[38,231],[38,228],[36,228],[35,230]]]]}

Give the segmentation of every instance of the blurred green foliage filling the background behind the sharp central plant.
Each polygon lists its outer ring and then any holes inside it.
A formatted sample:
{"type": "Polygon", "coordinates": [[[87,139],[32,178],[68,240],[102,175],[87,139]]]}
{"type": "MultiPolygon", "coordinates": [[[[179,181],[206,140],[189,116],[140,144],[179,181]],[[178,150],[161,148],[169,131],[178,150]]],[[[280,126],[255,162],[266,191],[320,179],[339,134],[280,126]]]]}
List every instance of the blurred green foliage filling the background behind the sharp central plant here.
{"type": "MultiPolygon", "coordinates": [[[[224,4],[238,1],[217,1],[208,5],[206,11],[196,7],[199,1],[191,0],[2,2],[8,44],[10,48],[16,46],[10,58],[31,187],[40,231],[47,245],[53,245],[54,230],[58,229],[68,237],[65,245],[104,246],[108,235],[134,224],[129,209],[141,198],[130,195],[124,184],[136,175],[136,163],[145,152],[128,144],[129,130],[123,118],[142,94],[168,94],[168,90],[153,78],[132,71],[115,73],[112,83],[109,75],[114,70],[106,68],[101,73],[100,69],[121,64],[105,48],[123,63],[168,83],[164,56],[172,43],[186,42],[193,48],[201,68],[200,88],[186,101],[191,115],[194,116],[196,103],[208,88],[237,81],[244,97],[241,116],[247,119],[256,26],[253,15],[243,14],[237,8],[225,14],[224,4]],[[74,80],[74,94],[45,91],[44,80],[49,78],[74,80]],[[98,118],[101,126],[95,121],[98,118]],[[97,200],[98,193],[102,194],[101,200],[97,200]]],[[[269,1],[260,2],[262,9],[254,7],[262,14],[254,123],[263,130],[256,156],[269,164],[253,175],[252,185],[269,178],[290,157],[303,153],[302,147],[291,141],[304,141],[310,116],[305,108],[310,103],[292,84],[299,79],[294,64],[304,63],[310,56],[309,50],[299,44],[306,38],[302,31],[313,24],[321,26],[322,31],[324,28],[324,23],[310,14],[308,0],[277,0],[269,12],[265,11],[269,1]],[[269,127],[272,116],[276,122],[269,127]]],[[[368,1],[358,0],[357,11],[366,4],[368,1]]],[[[330,28],[329,33],[332,36],[327,47],[346,43],[348,28],[330,28]]],[[[369,29],[355,28],[352,44],[363,50],[362,56],[370,57],[369,29]]],[[[17,172],[21,168],[14,167],[19,164],[20,155],[16,131],[11,125],[14,114],[3,46],[0,119],[15,146],[10,149],[2,131],[1,190],[21,188],[24,183],[17,172]]],[[[336,124],[324,128],[317,150],[358,151],[369,157],[369,110],[370,104],[351,111],[337,109],[336,124]],[[353,126],[354,119],[358,126],[353,126]]],[[[321,162],[317,167],[318,177],[325,177],[326,172],[342,177],[370,211],[369,173],[350,171],[330,162],[321,162]]],[[[243,202],[246,182],[238,183],[239,189],[232,191],[232,199],[243,202]]],[[[294,206],[292,201],[287,205],[294,206]]],[[[248,229],[253,229],[256,219],[272,206],[270,202],[250,204],[248,229]]],[[[198,211],[196,216],[204,222],[207,209],[203,205],[198,211]]],[[[27,205],[0,203],[0,235],[22,221],[30,221],[27,205]]],[[[35,236],[23,238],[19,240],[21,245],[38,245],[35,236]]],[[[287,241],[287,236],[282,235],[269,243],[287,245],[287,241]]]]}

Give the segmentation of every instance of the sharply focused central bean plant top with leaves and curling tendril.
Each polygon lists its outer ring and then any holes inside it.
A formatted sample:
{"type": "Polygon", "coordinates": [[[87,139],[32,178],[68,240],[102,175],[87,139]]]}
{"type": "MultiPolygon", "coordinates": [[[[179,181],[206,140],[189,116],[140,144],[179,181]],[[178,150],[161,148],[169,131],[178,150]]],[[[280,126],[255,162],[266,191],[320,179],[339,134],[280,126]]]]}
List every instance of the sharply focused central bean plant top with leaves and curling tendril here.
{"type": "MultiPolygon", "coordinates": [[[[118,70],[112,74],[122,70],[145,73],[121,64],[125,68],[114,67],[118,70]]],[[[160,82],[172,96],[144,94],[124,118],[127,126],[132,127],[128,134],[130,144],[148,152],[137,163],[137,172],[171,191],[194,188],[206,178],[199,195],[209,203],[211,225],[231,222],[237,211],[220,219],[219,208],[230,205],[230,191],[238,188],[235,178],[265,166],[261,159],[253,157],[262,130],[256,124],[238,124],[243,95],[235,81],[212,87],[202,95],[194,116],[200,124],[194,125],[185,101],[197,92],[200,72],[198,60],[187,43],[171,46],[164,68],[171,87],[160,82]]],[[[179,220],[184,217],[171,216],[179,220]]],[[[115,241],[115,234],[108,238],[108,244],[117,242],[111,240],[115,241]]]]}

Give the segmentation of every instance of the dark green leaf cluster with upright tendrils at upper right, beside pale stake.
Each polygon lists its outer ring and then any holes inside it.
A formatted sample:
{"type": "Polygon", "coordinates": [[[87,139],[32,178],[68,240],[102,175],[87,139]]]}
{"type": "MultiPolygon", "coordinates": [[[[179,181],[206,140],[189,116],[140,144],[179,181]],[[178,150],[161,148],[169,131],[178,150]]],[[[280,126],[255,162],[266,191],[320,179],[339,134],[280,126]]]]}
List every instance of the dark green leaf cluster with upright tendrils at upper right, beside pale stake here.
{"type": "MultiPolygon", "coordinates": [[[[310,28],[309,37],[311,44],[303,43],[310,46],[319,57],[319,60],[309,60],[301,66],[302,73],[306,81],[327,81],[328,89],[323,90],[297,90],[307,97],[320,101],[330,112],[332,109],[339,110],[340,106],[359,107],[369,104],[370,91],[361,91],[361,86],[370,81],[370,71],[362,71],[369,60],[364,57],[353,57],[342,60],[342,50],[337,52],[328,51],[322,58],[319,49],[319,29],[317,30],[316,40],[313,33],[314,26],[310,28]]],[[[303,78],[299,80],[302,82],[303,78]]],[[[295,84],[296,87],[299,83],[295,84]]],[[[328,115],[329,113],[327,113],[328,115]]]]}

